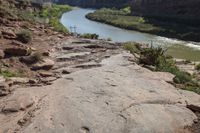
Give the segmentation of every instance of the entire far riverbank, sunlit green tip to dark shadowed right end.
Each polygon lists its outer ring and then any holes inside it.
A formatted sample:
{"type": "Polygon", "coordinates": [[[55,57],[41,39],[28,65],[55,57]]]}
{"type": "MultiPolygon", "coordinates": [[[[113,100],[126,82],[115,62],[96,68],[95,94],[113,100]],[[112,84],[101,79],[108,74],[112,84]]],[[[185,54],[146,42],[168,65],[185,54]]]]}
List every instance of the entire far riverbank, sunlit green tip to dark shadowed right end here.
{"type": "Polygon", "coordinates": [[[87,14],[86,17],[93,21],[128,30],[136,30],[186,41],[200,41],[200,27],[158,21],[156,19],[140,16],[130,16],[128,12],[123,12],[123,10],[103,8],[96,10],[94,13],[87,14]]]}

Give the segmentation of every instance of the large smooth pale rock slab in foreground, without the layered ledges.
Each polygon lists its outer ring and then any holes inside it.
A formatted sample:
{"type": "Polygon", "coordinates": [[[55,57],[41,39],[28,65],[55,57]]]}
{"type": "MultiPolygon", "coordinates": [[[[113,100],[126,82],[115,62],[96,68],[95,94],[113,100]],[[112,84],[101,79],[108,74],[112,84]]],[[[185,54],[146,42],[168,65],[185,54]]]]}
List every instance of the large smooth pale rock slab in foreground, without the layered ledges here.
{"type": "Polygon", "coordinates": [[[188,96],[199,95],[180,93],[127,56],[111,56],[101,67],[57,80],[48,87],[46,108],[23,132],[187,132],[185,127],[197,120],[186,107],[192,102],[188,96]]]}

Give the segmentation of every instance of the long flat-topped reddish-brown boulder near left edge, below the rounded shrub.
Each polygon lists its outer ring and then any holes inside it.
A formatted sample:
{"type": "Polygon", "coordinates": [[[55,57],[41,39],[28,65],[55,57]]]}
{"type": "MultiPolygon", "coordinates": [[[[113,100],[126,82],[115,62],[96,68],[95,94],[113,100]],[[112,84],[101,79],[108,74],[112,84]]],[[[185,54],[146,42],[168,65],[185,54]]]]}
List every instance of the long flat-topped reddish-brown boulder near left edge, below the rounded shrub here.
{"type": "Polygon", "coordinates": [[[9,56],[27,56],[30,54],[30,50],[27,47],[11,47],[6,48],[4,53],[9,56]]]}

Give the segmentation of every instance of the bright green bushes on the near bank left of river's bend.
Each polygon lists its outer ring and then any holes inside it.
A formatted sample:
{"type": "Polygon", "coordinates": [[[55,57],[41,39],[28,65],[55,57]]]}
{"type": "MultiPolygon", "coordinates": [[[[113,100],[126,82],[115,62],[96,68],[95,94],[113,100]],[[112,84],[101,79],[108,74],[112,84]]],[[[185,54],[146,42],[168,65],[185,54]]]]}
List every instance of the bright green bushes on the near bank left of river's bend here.
{"type": "Polygon", "coordinates": [[[72,7],[68,5],[53,4],[52,7],[43,7],[40,11],[40,17],[48,18],[49,24],[54,27],[55,30],[67,33],[68,30],[60,23],[60,17],[64,12],[70,10],[72,10],[72,7]]]}

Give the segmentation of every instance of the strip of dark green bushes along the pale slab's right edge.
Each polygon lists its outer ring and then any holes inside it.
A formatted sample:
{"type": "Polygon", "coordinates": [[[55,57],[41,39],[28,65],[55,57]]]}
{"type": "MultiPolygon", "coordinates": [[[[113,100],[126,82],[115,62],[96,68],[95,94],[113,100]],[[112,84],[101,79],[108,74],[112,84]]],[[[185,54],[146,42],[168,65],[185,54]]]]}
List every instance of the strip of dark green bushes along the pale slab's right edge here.
{"type": "Polygon", "coordinates": [[[154,66],[155,71],[169,72],[175,75],[174,83],[181,84],[182,89],[194,91],[200,94],[200,84],[196,81],[195,75],[181,71],[175,64],[171,56],[166,55],[166,51],[160,47],[141,48],[139,44],[127,43],[124,49],[132,54],[139,54],[139,63],[154,66]]]}

